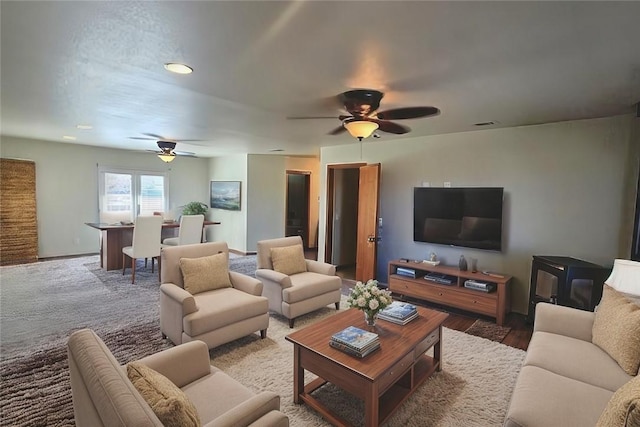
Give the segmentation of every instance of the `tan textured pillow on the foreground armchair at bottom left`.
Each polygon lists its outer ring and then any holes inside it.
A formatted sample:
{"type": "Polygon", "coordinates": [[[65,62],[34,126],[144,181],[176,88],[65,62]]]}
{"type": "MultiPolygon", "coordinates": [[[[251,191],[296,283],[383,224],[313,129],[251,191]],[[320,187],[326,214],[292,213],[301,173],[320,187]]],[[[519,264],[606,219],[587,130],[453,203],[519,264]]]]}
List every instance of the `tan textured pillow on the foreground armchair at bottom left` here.
{"type": "Polygon", "coordinates": [[[187,395],[161,373],[131,362],[127,376],[165,427],[201,425],[198,411],[187,395]]]}

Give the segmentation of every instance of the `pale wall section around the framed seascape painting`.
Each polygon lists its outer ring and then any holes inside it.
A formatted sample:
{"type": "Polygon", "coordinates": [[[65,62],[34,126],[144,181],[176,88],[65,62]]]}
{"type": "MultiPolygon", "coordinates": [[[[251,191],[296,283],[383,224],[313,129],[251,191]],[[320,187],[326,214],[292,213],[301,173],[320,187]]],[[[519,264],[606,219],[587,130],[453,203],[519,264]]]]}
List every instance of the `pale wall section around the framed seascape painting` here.
{"type": "MultiPolygon", "coordinates": [[[[227,242],[230,249],[247,252],[247,155],[209,159],[210,181],[240,181],[240,211],[211,209],[211,217],[220,225],[207,227],[207,241],[227,242]]],[[[207,199],[207,204],[209,200],[207,199]]]]}

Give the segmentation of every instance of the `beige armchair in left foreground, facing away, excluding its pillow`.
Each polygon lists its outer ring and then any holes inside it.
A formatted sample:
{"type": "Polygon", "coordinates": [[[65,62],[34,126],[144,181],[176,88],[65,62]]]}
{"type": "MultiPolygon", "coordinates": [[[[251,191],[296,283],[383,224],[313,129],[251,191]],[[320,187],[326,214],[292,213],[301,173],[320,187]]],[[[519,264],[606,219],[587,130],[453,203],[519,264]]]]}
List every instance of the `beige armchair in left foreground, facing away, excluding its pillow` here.
{"type": "MultiPolygon", "coordinates": [[[[162,426],[113,357],[91,330],[71,335],[69,370],[76,425],[162,426]]],[[[253,393],[211,366],[206,344],[194,341],[140,359],[177,385],[196,407],[203,426],[288,426],[280,397],[253,393]]]]}

